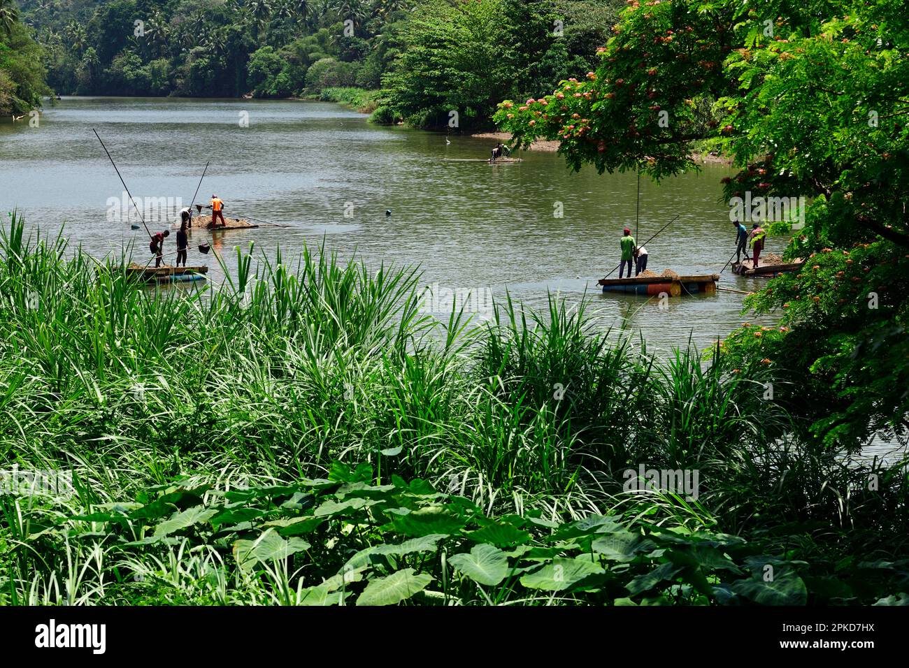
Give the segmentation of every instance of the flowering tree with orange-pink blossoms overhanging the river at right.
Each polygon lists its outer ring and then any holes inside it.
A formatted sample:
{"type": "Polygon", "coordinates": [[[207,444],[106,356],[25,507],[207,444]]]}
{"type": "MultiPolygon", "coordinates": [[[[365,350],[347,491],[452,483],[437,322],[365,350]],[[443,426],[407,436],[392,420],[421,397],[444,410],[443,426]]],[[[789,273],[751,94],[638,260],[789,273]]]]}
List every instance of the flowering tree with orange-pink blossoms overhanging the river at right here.
{"type": "Polygon", "coordinates": [[[909,13],[901,0],[629,0],[599,67],[552,95],[506,101],[517,145],[557,139],[568,164],[695,167],[714,138],[738,174],[726,198],[804,196],[808,259],[749,302],[782,331],[737,333],[726,354],[774,364],[778,394],[828,443],[909,422],[909,13]],[[759,335],[754,335],[759,334],[759,335]],[[781,388],[782,389],[782,388],[781,388]]]}

